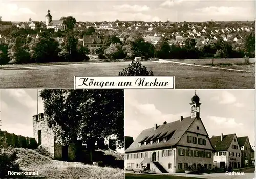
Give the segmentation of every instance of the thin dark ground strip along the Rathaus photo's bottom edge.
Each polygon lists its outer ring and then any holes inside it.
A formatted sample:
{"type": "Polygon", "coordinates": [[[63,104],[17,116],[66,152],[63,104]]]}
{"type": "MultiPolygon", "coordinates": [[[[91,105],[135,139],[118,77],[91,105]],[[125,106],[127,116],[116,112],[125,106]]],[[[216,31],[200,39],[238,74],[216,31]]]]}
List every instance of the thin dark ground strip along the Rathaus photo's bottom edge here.
{"type": "Polygon", "coordinates": [[[196,177],[186,177],[186,176],[168,176],[168,175],[154,175],[154,174],[133,174],[125,173],[125,179],[198,179],[196,177]]]}

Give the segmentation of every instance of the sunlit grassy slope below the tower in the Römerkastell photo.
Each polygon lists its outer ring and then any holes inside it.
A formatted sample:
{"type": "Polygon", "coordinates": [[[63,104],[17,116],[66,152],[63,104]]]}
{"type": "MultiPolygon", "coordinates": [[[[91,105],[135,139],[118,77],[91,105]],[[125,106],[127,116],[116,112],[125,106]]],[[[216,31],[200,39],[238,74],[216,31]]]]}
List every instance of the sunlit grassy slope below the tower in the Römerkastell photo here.
{"type": "Polygon", "coordinates": [[[38,171],[38,176],[35,178],[123,179],[124,171],[122,169],[52,160],[49,156],[38,151],[38,149],[18,148],[16,150],[19,158],[17,163],[20,168],[23,171],[38,171]]]}

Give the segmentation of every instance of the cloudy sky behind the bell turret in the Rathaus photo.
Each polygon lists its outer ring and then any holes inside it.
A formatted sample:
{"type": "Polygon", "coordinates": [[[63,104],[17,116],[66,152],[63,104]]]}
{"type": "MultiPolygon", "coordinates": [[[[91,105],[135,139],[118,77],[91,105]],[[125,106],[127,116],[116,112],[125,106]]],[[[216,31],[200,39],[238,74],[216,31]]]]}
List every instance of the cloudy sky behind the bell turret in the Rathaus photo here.
{"type": "MultiPolygon", "coordinates": [[[[125,136],[135,138],[144,129],[190,116],[195,90],[125,90],[125,136]]],[[[254,90],[197,90],[201,119],[209,134],[249,136],[255,145],[254,90]]]]}

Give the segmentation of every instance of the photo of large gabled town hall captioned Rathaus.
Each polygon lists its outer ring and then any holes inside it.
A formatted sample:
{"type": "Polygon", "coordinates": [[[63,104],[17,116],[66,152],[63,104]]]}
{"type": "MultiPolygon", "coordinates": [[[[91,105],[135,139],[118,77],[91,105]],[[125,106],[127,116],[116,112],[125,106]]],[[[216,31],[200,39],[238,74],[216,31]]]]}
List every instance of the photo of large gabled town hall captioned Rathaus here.
{"type": "Polygon", "coordinates": [[[124,96],[125,178],[254,177],[254,90],[125,90],[124,96]]]}

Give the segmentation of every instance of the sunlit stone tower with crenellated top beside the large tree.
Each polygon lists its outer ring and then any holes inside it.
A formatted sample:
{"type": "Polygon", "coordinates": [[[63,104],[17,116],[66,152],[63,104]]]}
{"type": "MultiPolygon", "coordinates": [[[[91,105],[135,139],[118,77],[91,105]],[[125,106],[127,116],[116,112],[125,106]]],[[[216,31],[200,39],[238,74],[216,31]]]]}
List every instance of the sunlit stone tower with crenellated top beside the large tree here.
{"type": "Polygon", "coordinates": [[[41,146],[54,157],[54,133],[49,128],[43,113],[33,116],[33,136],[37,143],[39,143],[39,130],[41,130],[41,146]]]}

